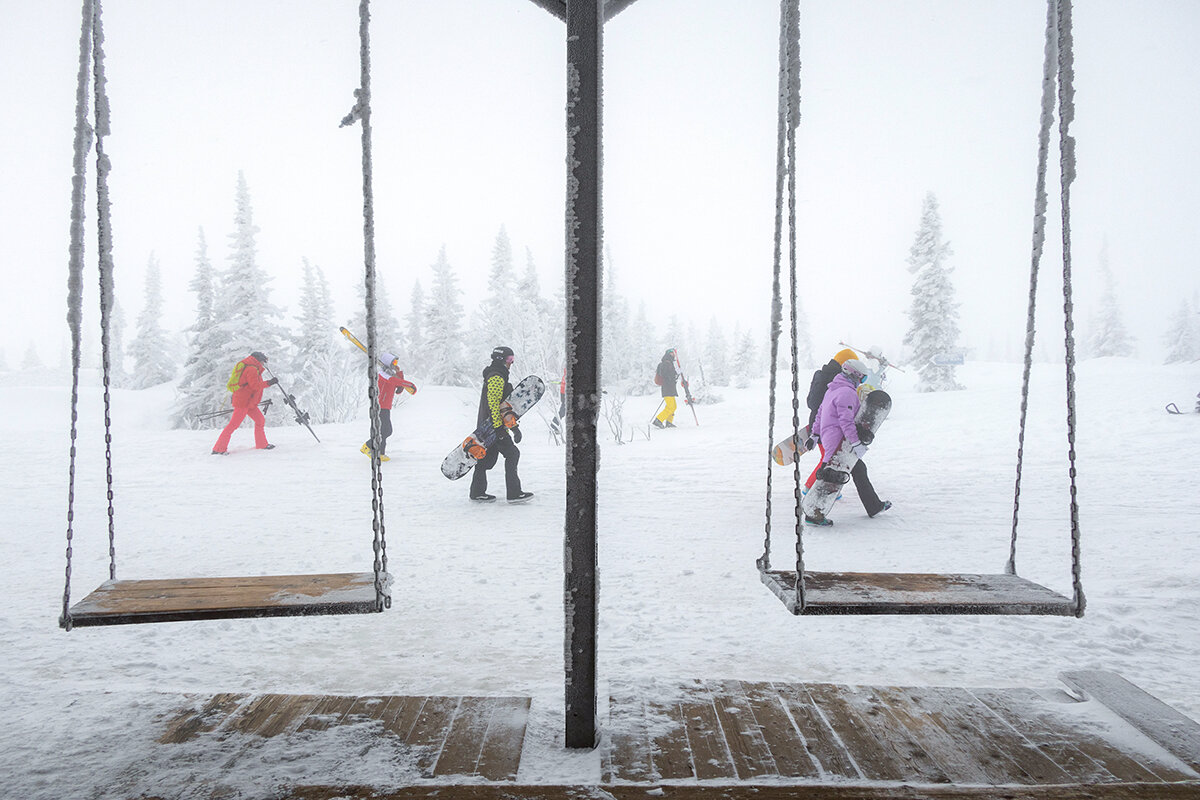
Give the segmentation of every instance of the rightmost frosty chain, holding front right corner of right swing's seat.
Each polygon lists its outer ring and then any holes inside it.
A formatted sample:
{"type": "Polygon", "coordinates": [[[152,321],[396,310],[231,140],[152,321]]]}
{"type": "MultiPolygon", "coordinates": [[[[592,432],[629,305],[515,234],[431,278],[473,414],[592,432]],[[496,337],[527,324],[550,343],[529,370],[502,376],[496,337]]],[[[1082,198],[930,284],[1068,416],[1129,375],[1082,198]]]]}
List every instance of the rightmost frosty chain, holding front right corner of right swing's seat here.
{"type": "Polygon", "coordinates": [[[1084,615],[1084,583],[1079,553],[1079,500],[1075,470],[1075,323],[1070,285],[1070,185],[1075,181],[1075,62],[1070,0],[1058,4],[1058,158],[1062,181],[1062,315],[1067,347],[1067,458],[1070,475],[1070,577],[1075,616],[1084,615]]]}

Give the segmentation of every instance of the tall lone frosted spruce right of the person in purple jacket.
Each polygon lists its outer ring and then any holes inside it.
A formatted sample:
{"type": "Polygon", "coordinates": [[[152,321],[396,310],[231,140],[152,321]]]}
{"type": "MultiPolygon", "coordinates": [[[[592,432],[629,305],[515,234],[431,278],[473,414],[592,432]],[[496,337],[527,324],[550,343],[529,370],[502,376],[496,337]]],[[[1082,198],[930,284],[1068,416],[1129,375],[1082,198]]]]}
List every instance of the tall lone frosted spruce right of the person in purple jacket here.
{"type": "Polygon", "coordinates": [[[917,389],[924,392],[962,389],[954,379],[954,365],[938,363],[959,350],[959,303],[950,282],[954,270],[946,263],[950,254],[949,242],[942,241],[937,198],[930,192],[922,207],[917,237],[908,249],[908,272],[914,278],[910,327],[904,337],[917,369],[917,389]]]}

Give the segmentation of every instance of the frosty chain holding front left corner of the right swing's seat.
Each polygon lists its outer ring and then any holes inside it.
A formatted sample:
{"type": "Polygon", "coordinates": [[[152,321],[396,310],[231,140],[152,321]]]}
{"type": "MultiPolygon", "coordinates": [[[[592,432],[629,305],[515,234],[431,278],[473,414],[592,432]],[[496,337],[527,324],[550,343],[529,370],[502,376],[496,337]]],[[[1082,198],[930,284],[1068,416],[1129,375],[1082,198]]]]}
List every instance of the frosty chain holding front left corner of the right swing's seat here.
{"type": "MultiPolygon", "coordinates": [[[[800,125],[800,8],[799,0],[785,4],[784,55],[780,65],[786,82],[787,106],[787,259],[792,311],[792,437],[800,434],[799,285],[796,265],[796,128],[800,125]]],[[[804,515],[800,507],[800,461],[792,461],[792,499],[796,504],[796,606],[804,609],[804,515]]]]}

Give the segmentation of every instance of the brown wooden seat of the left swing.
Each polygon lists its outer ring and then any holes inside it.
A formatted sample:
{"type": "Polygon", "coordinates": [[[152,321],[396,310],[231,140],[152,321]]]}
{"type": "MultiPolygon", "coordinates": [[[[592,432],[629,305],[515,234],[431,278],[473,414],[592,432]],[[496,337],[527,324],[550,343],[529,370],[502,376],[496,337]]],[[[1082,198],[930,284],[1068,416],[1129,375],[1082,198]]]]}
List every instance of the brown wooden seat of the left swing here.
{"type": "Polygon", "coordinates": [[[374,610],[373,572],[173,578],[106,581],[71,607],[71,621],[83,627],[374,610]]]}

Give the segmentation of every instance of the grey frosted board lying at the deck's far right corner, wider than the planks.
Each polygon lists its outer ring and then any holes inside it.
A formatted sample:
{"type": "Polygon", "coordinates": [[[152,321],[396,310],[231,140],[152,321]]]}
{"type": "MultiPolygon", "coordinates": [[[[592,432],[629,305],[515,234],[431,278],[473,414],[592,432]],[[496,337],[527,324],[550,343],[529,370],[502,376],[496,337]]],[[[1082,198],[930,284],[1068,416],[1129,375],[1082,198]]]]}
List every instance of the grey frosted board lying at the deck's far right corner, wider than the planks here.
{"type": "Polygon", "coordinates": [[[1200,771],[1200,724],[1190,717],[1114,672],[1081,669],[1064,672],[1058,678],[1104,704],[1163,750],[1200,771]]]}

